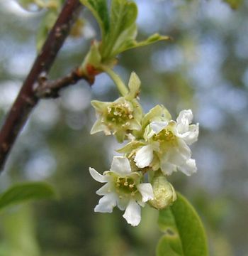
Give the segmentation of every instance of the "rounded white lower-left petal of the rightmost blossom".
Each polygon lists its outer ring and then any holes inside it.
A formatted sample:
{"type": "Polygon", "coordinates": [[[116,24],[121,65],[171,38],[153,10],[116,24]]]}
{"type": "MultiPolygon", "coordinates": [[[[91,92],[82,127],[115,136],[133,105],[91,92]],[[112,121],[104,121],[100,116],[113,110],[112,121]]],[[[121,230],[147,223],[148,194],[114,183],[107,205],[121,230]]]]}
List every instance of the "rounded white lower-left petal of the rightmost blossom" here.
{"type": "Polygon", "coordinates": [[[138,167],[144,168],[152,163],[153,149],[152,145],[142,146],[137,150],[135,156],[135,163],[138,167]]]}

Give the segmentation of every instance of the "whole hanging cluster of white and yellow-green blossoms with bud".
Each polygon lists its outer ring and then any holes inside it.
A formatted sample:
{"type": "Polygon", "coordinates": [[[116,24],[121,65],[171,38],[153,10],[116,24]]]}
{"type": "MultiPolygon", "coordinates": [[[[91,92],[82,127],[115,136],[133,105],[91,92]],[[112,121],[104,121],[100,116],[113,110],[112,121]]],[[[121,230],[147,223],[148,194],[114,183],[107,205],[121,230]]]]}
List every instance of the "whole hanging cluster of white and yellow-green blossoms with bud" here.
{"type": "Polygon", "coordinates": [[[149,203],[161,210],[176,200],[167,176],[177,170],[187,176],[196,172],[189,145],[198,139],[199,128],[191,124],[191,110],[181,111],[176,121],[162,105],[144,114],[137,98],[140,80],[135,73],[128,87],[128,92],[114,102],[91,102],[98,117],[91,134],[113,134],[118,142],[128,143],[118,149],[123,156],[113,157],[110,171],[103,175],[93,168],[89,171],[96,181],[106,183],[96,191],[103,197],[94,210],[111,213],[117,206],[135,226],[140,223],[140,206],[149,203]],[[149,182],[145,182],[147,179],[149,182]]]}

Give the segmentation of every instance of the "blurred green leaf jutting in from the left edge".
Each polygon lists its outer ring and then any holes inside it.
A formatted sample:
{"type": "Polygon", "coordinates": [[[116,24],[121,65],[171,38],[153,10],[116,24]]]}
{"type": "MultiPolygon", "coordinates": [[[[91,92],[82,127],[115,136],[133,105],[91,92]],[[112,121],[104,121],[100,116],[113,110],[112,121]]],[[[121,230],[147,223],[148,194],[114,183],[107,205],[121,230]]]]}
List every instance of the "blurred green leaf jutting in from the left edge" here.
{"type": "Polygon", "coordinates": [[[23,201],[52,198],[55,192],[52,187],[43,182],[20,183],[0,194],[0,210],[6,206],[22,203],[23,201]]]}

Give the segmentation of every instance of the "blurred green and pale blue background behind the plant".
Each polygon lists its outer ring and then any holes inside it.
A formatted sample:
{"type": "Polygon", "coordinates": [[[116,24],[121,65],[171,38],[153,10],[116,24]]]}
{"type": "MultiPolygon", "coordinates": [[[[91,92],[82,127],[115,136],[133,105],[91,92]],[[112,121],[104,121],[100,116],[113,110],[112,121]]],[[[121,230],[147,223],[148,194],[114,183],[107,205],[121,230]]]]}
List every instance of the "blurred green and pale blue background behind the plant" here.
{"type": "MultiPolygon", "coordinates": [[[[165,105],[176,118],[191,108],[199,140],[191,149],[198,173],[169,178],[196,207],[207,230],[210,255],[248,255],[248,2],[233,11],[220,0],[137,0],[138,38],[159,32],[174,41],[120,55],[115,71],[128,81],[135,70],[147,112],[165,105]]],[[[8,112],[36,55],[35,33],[44,11],[30,13],[15,1],[0,1],[0,115],[8,112]]],[[[81,63],[98,27],[89,11],[82,37],[68,38],[51,78],[81,63]]],[[[137,228],[120,210],[94,213],[101,186],[89,175],[109,169],[112,137],[91,136],[94,100],[115,100],[107,75],[63,90],[57,100],[41,100],[18,138],[0,190],[20,181],[47,181],[59,200],[26,203],[0,215],[1,256],[155,255],[161,233],[157,211],[142,209],[137,228]]],[[[199,255],[201,256],[201,255],[199,255]]]]}

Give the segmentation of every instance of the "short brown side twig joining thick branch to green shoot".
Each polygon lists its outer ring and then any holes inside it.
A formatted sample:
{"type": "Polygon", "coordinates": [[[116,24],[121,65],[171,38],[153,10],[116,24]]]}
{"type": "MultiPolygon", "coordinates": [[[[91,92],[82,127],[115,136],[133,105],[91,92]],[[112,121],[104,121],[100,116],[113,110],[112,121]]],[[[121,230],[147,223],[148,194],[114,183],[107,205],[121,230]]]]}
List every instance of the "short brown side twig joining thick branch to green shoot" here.
{"type": "Polygon", "coordinates": [[[71,73],[64,76],[64,78],[59,78],[53,81],[47,80],[46,76],[41,75],[38,80],[38,86],[35,89],[35,94],[39,98],[56,98],[60,96],[59,92],[62,88],[74,85],[77,81],[82,79],[89,82],[89,85],[92,85],[94,82],[93,78],[81,75],[79,68],[75,68],[71,73]]]}

